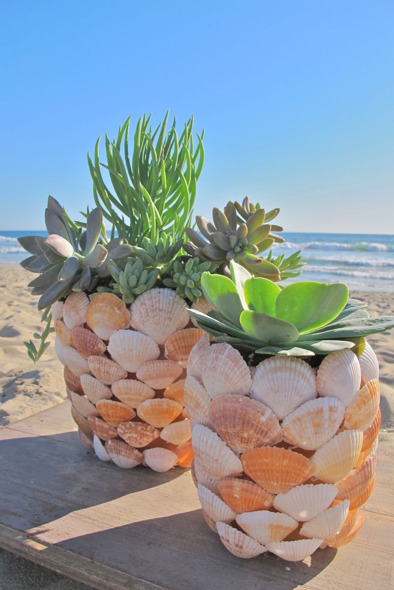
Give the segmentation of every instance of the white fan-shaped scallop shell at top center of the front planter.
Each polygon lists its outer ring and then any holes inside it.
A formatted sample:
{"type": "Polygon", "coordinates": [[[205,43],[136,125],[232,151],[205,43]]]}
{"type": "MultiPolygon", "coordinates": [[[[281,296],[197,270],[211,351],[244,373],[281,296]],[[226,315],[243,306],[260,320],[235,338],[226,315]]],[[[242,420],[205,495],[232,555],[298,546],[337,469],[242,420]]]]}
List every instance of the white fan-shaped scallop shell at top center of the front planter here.
{"type": "Polygon", "coordinates": [[[316,394],[313,369],[291,356],[262,360],[253,375],[251,397],[271,408],[280,420],[316,394]]]}

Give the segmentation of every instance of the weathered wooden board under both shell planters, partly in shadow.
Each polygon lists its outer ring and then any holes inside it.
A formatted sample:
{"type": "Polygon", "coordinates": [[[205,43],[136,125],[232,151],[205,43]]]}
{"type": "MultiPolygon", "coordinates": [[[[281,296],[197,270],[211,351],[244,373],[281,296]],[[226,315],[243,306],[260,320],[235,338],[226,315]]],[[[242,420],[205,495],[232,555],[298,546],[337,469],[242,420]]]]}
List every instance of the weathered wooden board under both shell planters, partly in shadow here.
{"type": "Polygon", "coordinates": [[[188,470],[101,463],[68,402],[0,431],[0,546],[99,590],[393,590],[392,438],[359,536],[301,563],[235,558],[208,529],[188,470]]]}

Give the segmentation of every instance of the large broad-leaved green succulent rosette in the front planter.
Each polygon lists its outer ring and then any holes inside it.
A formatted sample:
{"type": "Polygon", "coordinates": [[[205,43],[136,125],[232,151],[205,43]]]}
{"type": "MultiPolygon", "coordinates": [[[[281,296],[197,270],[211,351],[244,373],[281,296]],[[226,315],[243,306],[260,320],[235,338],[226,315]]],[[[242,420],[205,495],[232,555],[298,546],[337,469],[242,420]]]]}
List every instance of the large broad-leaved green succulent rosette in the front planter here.
{"type": "Polygon", "coordinates": [[[218,311],[189,310],[217,342],[262,355],[327,355],[355,346],[359,352],[365,336],[394,327],[394,316],[369,317],[365,303],[348,299],[343,283],[303,281],[281,289],[237,263],[230,267],[231,278],[201,277],[203,294],[218,311]]]}

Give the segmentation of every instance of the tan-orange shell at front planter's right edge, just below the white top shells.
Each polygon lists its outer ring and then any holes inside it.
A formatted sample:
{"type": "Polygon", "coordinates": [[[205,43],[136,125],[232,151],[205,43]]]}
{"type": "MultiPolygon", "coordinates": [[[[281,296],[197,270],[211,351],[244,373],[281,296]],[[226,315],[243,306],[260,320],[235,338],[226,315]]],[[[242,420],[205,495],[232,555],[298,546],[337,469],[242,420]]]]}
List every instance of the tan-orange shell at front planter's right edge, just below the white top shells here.
{"type": "Polygon", "coordinates": [[[360,428],[363,431],[369,428],[377,414],[379,401],[379,381],[372,379],[360,391],[357,391],[352,402],[346,408],[344,427],[350,430],[360,428]]]}

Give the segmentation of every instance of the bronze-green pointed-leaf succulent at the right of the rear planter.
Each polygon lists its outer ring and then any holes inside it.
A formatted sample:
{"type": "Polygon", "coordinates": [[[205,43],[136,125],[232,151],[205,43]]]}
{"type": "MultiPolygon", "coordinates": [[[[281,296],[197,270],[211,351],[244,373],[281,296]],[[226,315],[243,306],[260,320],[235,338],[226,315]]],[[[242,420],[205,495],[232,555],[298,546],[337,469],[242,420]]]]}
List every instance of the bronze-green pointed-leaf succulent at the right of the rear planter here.
{"type": "Polygon", "coordinates": [[[198,215],[196,225],[200,233],[186,228],[189,242],[183,248],[193,257],[202,261],[212,261],[219,265],[219,272],[229,276],[229,261],[234,260],[247,268],[254,276],[280,281],[281,269],[293,276],[300,274],[301,258],[299,252],[287,260],[272,258],[266,260],[261,254],[268,250],[274,242],[282,243],[284,238],[275,231],[283,231],[280,225],[270,222],[278,215],[279,209],[265,213],[260,204],[253,205],[245,198],[242,205],[229,201],[224,211],[214,207],[213,223],[198,215]],[[276,263],[276,264],[275,264],[276,263]]]}

